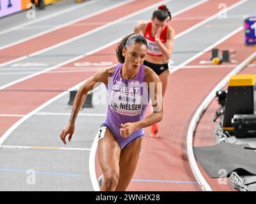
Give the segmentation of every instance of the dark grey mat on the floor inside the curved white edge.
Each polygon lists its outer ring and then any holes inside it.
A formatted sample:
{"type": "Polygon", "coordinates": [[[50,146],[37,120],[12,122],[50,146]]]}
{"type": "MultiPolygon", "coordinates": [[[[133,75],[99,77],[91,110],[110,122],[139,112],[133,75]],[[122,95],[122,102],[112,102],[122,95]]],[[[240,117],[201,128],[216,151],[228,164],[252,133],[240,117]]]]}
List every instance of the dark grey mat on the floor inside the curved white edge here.
{"type": "Polygon", "coordinates": [[[232,171],[245,170],[256,175],[256,152],[245,149],[246,144],[218,143],[194,147],[195,158],[211,178],[226,177],[232,171]]]}

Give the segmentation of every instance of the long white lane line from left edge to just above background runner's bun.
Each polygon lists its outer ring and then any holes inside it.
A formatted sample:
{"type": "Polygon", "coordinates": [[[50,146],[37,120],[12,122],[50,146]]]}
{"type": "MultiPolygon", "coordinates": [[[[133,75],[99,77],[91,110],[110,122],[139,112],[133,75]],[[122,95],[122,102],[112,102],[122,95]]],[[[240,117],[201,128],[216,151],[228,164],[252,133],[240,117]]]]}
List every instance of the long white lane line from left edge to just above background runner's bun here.
{"type": "Polygon", "coordinates": [[[19,57],[19,58],[13,59],[13,60],[8,61],[8,62],[4,62],[4,63],[0,64],[0,68],[3,67],[3,66],[6,66],[6,65],[8,65],[8,64],[11,64],[11,63],[13,63],[13,62],[21,61],[21,60],[27,59],[27,58],[29,58],[29,57],[34,57],[34,56],[36,56],[36,55],[42,54],[42,53],[44,53],[44,52],[48,52],[49,50],[52,50],[52,49],[54,49],[54,48],[58,48],[58,47],[61,47],[61,46],[63,46],[63,45],[66,45],[66,44],[68,44],[68,43],[71,43],[72,41],[79,40],[80,38],[84,38],[85,36],[87,36],[87,35],[89,35],[89,34],[96,33],[96,32],[98,32],[98,31],[100,31],[100,30],[102,30],[102,29],[105,29],[105,28],[107,28],[107,27],[110,27],[111,25],[118,24],[119,22],[121,22],[121,21],[123,21],[123,20],[126,20],[127,18],[131,18],[131,17],[133,17],[133,16],[135,16],[135,15],[139,15],[140,13],[143,13],[143,12],[145,12],[145,11],[147,11],[147,10],[151,10],[152,8],[155,8],[155,7],[157,7],[158,5],[167,3],[167,2],[169,2],[169,1],[173,1],[173,0],[160,1],[160,2],[158,2],[158,3],[156,3],[156,4],[151,5],[151,6],[147,6],[146,8],[144,8],[144,9],[142,9],[142,10],[139,10],[139,11],[136,11],[136,12],[131,13],[131,14],[129,14],[129,15],[126,15],[126,16],[124,16],[124,17],[118,18],[117,20],[111,21],[111,22],[109,22],[109,23],[107,23],[107,24],[105,24],[105,25],[102,25],[102,26],[100,26],[100,27],[96,27],[95,29],[93,29],[93,30],[91,30],[91,31],[87,31],[86,33],[83,33],[83,34],[80,34],[80,35],[75,36],[75,37],[73,37],[73,38],[70,38],[70,39],[68,39],[68,40],[62,41],[61,43],[57,43],[56,45],[52,45],[52,46],[50,46],[50,47],[44,48],[44,49],[39,50],[39,51],[37,51],[37,52],[34,52],[34,53],[32,53],[32,54],[29,54],[29,55],[26,55],[26,56],[23,56],[23,57],[19,57]]]}

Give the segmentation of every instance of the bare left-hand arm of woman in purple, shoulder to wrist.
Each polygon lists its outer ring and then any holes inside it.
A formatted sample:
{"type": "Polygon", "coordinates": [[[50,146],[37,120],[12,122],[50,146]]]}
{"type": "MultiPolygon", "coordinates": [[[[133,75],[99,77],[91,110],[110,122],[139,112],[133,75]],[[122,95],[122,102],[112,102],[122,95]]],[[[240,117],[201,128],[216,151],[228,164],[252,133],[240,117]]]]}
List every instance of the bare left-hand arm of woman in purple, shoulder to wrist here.
{"type": "Polygon", "coordinates": [[[93,77],[88,78],[86,82],[84,82],[82,87],[80,87],[79,91],[77,91],[77,95],[75,96],[72,113],[69,120],[70,124],[75,124],[75,120],[77,119],[79,110],[82,107],[88,92],[98,87],[98,85],[102,84],[102,82],[107,84],[107,79],[107,70],[100,69],[95,73],[95,75],[93,75],[93,77]]]}

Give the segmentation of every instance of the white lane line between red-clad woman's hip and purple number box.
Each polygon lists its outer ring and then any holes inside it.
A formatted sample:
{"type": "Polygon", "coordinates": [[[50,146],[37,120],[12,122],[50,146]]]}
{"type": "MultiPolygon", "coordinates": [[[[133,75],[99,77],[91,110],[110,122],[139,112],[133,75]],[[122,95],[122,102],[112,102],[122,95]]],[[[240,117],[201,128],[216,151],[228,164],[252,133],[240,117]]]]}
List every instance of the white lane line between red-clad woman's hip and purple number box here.
{"type": "MultiPolygon", "coordinates": [[[[246,0],[247,1],[247,0],[246,0]]],[[[170,69],[170,73],[174,73],[174,71],[177,71],[178,69],[183,68],[186,64],[188,64],[189,62],[192,62],[193,60],[197,59],[198,57],[200,57],[200,55],[205,54],[206,52],[208,52],[209,50],[211,50],[212,48],[216,47],[217,45],[220,45],[220,43],[223,43],[223,41],[229,39],[231,36],[233,36],[234,34],[238,33],[239,31],[241,31],[243,29],[243,26],[238,27],[236,30],[232,31],[231,33],[227,34],[226,36],[224,36],[223,38],[221,38],[220,40],[216,41],[215,43],[213,43],[212,45],[210,45],[209,47],[207,47],[206,49],[204,49],[202,52],[199,52],[196,55],[193,55],[193,57],[190,57],[190,59],[187,59],[186,61],[184,61],[183,63],[179,64],[178,66],[176,66],[173,69],[170,69]]]]}

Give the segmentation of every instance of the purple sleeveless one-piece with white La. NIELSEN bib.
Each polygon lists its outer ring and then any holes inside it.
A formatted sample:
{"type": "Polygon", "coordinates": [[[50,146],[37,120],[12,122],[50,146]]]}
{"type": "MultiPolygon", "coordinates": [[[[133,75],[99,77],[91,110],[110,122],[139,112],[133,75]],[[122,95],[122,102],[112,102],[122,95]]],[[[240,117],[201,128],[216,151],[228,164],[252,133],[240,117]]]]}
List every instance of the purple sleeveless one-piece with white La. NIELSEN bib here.
{"type": "Polygon", "coordinates": [[[121,78],[123,64],[117,64],[112,77],[107,85],[108,112],[103,125],[107,126],[121,149],[129,145],[133,140],[144,135],[144,129],[134,131],[132,135],[123,138],[120,135],[121,123],[137,122],[144,119],[149,102],[149,92],[145,81],[145,66],[142,64],[137,75],[131,80],[121,78]]]}

